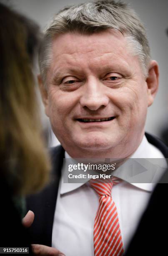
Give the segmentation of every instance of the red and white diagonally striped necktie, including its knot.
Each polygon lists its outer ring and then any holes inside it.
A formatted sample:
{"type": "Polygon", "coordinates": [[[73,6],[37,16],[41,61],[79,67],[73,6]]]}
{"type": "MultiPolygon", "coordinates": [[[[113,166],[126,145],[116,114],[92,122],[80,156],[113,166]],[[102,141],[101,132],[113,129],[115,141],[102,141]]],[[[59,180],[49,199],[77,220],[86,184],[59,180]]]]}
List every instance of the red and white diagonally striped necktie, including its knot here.
{"type": "Polygon", "coordinates": [[[123,255],[123,241],[120,232],[117,208],[111,197],[113,184],[120,182],[118,178],[91,179],[90,185],[99,196],[99,207],[94,223],[95,256],[123,255]]]}

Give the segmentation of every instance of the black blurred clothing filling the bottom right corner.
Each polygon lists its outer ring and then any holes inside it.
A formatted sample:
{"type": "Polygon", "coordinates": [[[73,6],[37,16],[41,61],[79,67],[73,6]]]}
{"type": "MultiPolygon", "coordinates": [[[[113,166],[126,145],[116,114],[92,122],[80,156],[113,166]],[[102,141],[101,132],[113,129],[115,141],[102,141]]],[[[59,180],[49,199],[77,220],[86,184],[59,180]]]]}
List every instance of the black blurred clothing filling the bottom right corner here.
{"type": "Polygon", "coordinates": [[[125,256],[168,255],[167,194],[168,170],[156,185],[125,256]]]}

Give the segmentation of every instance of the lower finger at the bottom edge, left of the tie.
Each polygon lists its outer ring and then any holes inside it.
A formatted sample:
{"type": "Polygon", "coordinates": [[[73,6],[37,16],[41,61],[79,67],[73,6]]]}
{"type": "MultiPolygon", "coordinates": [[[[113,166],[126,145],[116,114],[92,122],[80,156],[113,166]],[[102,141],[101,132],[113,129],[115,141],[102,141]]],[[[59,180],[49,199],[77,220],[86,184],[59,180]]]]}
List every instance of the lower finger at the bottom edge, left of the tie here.
{"type": "Polygon", "coordinates": [[[60,252],[58,249],[41,244],[32,244],[32,251],[35,255],[39,256],[65,256],[65,254],[60,252]]]}

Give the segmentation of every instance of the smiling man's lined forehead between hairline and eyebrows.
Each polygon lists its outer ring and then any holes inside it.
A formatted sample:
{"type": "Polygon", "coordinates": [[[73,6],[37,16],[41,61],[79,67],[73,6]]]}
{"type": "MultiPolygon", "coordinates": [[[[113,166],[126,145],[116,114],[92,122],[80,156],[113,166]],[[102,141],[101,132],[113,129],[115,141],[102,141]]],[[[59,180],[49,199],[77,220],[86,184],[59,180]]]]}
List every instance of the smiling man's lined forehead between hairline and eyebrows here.
{"type": "Polygon", "coordinates": [[[111,68],[124,72],[131,69],[134,61],[137,58],[130,54],[126,38],[119,31],[108,29],[92,35],[64,33],[54,38],[50,71],[58,74],[75,68],[77,72],[91,66],[96,72],[111,68]]]}

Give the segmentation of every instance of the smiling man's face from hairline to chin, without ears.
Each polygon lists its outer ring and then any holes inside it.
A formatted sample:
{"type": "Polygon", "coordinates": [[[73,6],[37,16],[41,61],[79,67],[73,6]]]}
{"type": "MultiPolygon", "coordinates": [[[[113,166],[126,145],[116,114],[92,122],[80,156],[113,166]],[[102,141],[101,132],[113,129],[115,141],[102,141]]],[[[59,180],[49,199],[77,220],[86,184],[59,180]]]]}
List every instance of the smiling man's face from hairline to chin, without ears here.
{"type": "Polygon", "coordinates": [[[143,137],[149,95],[138,56],[120,32],[55,37],[45,111],[71,156],[133,153],[143,137]]]}

